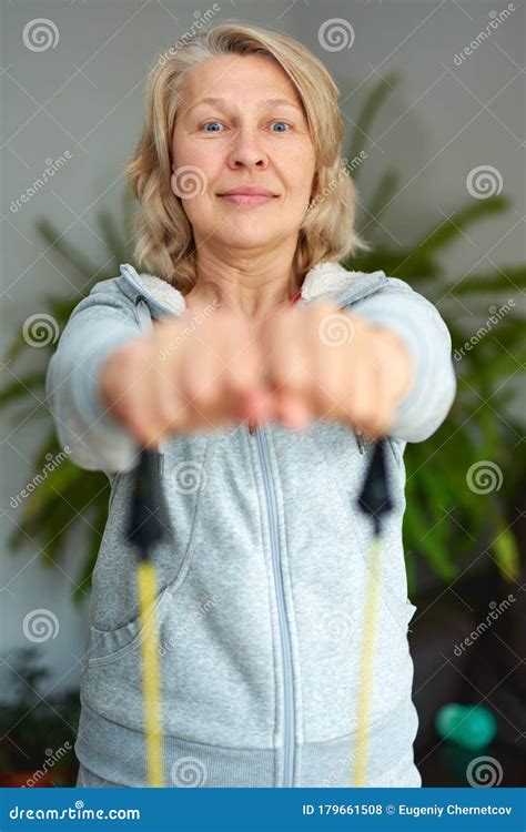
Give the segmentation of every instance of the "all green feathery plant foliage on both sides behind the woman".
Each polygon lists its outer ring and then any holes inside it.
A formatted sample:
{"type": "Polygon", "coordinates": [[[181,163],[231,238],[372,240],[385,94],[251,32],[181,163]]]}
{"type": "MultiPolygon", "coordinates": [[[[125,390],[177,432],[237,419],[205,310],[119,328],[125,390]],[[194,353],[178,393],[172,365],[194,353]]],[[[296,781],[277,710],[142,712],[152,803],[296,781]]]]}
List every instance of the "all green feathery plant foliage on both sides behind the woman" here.
{"type": "MultiPolygon", "coordinates": [[[[356,158],[365,143],[365,135],[383,104],[388,90],[397,82],[394,74],[386,83],[378,83],[370,94],[357,120],[351,141],[350,158],[356,158]]],[[[361,168],[352,171],[357,181],[361,168]]],[[[380,180],[371,206],[366,211],[372,217],[366,222],[364,236],[374,245],[374,251],[343,262],[347,268],[365,272],[378,268],[390,276],[407,281],[437,305],[446,294],[469,303],[471,312],[487,318],[488,305],[498,305],[503,294],[509,294],[509,284],[523,290],[526,283],[526,266],[498,266],[488,274],[469,274],[462,282],[447,286],[447,275],[438,263],[438,255],[455,242],[459,234],[476,222],[488,220],[505,211],[509,203],[504,196],[483,201],[471,200],[449,220],[417,240],[407,248],[394,250],[385,242],[380,217],[387,211],[396,194],[399,176],[386,171],[380,180]],[[494,300],[493,300],[494,298],[494,300]]],[[[132,262],[129,247],[132,239],[131,197],[124,195],[124,232],[111,214],[101,212],[98,217],[100,233],[105,240],[110,257],[102,268],[92,263],[75,247],[69,245],[47,221],[39,223],[39,232],[52,246],[55,255],[64,261],[68,274],[77,274],[81,282],[81,294],[89,293],[100,280],[113,277],[120,263],[132,262]]],[[[79,297],[48,301],[49,313],[62,328],[79,297]]],[[[447,303],[441,303],[441,312],[452,333],[454,349],[473,334],[447,314],[447,303]],[[444,306],[444,308],[442,308],[444,306]]],[[[457,311],[457,307],[454,307],[457,311]]],[[[515,488],[523,466],[519,463],[519,438],[522,427],[510,417],[500,417],[513,392],[504,384],[514,376],[524,362],[522,344],[524,318],[510,314],[498,323],[495,331],[481,338],[476,348],[467,353],[458,365],[458,393],[455,404],[441,428],[425,443],[409,444],[406,449],[407,510],[404,537],[407,552],[417,552],[444,581],[449,581],[462,568],[462,559],[476,544],[489,538],[488,551],[498,562],[503,575],[515,577],[518,571],[518,550],[513,529],[510,508],[514,506],[515,488]],[[482,495],[466,485],[466,475],[473,463],[489,460],[505,473],[502,487],[482,495]],[[453,461],[453,464],[452,464],[453,461]]],[[[16,362],[29,347],[20,335],[12,344],[7,364],[16,362]]],[[[12,382],[0,393],[0,404],[12,406],[24,404],[16,418],[37,418],[33,396],[42,396],[47,361],[52,345],[40,349],[42,366],[39,371],[17,373],[12,382]]],[[[33,351],[34,352],[34,351],[33,351]]],[[[34,455],[34,469],[41,471],[45,459],[55,456],[58,446],[53,428],[34,455]]],[[[67,532],[78,524],[79,516],[89,520],[88,550],[83,561],[73,599],[80,601],[87,590],[97,559],[100,538],[108,513],[109,484],[105,475],[77,468],[68,459],[61,463],[26,499],[19,528],[9,539],[17,549],[27,536],[42,548],[44,564],[53,565],[67,548],[67,532]]],[[[414,558],[407,558],[409,588],[414,584],[414,558]]]]}

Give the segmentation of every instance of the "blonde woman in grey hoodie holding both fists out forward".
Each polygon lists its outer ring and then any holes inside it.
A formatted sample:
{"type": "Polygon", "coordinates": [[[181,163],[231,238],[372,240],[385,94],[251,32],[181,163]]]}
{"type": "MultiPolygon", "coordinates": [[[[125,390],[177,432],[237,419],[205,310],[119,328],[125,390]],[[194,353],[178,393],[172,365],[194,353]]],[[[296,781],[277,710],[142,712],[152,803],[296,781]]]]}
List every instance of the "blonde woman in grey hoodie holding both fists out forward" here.
{"type": "Polygon", "coordinates": [[[142,205],[135,255],[151,273],[125,264],[93,287],[47,379],[61,443],[112,486],[79,785],[146,784],[125,540],[142,446],[160,449],[166,785],[351,784],[372,536],[356,500],[384,436],[395,506],[364,784],[421,785],[403,453],[443,423],[455,376],[428,301],[383,272],[338,265],[366,245],[342,132],[331,77],[282,34],[218,26],[151,73],[128,169],[142,205]]]}

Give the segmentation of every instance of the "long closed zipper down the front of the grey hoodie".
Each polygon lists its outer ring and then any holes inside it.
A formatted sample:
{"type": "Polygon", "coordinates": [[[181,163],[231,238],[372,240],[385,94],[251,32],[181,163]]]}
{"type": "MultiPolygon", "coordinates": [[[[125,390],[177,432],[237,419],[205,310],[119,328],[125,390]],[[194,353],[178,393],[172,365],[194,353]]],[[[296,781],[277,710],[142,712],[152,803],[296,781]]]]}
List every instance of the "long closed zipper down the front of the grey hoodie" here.
{"type": "Polygon", "coordinates": [[[274,588],[277,601],[277,621],[280,626],[280,641],[283,666],[283,692],[284,692],[284,747],[283,747],[283,777],[281,787],[286,789],[294,782],[294,682],[292,673],[292,647],[289,623],[286,620],[285,595],[283,591],[283,574],[281,569],[280,537],[277,532],[277,500],[272,478],[271,464],[269,459],[269,446],[263,430],[249,423],[249,433],[255,436],[257,453],[263,471],[263,484],[266,498],[266,510],[269,516],[269,528],[271,534],[272,570],[274,575],[274,588]]]}

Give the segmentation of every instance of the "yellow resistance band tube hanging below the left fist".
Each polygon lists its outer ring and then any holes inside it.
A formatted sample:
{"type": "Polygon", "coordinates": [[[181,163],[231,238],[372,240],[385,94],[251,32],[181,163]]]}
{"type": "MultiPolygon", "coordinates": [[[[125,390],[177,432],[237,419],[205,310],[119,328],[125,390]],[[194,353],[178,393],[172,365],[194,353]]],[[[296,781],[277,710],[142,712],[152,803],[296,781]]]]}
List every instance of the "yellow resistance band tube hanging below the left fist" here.
{"type": "Polygon", "coordinates": [[[152,788],[163,783],[163,744],[161,733],[161,683],[159,671],[159,632],[155,626],[155,568],[150,560],[138,564],[138,595],[141,618],[142,696],[146,742],[146,777],[152,788]]]}

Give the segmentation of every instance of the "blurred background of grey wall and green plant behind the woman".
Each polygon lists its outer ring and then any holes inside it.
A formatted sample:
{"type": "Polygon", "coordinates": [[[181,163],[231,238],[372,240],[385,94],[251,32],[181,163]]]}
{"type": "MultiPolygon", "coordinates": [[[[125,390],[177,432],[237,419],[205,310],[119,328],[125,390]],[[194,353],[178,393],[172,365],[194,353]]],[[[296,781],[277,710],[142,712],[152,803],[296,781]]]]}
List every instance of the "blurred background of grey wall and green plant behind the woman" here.
{"type": "Polygon", "coordinates": [[[423,784],[526,782],[524,2],[1,2],[0,784],[73,785],[90,577],[110,487],[64,458],[47,363],[133,263],[123,169],[149,69],[225,21],[294,37],[341,91],[374,246],[453,337],[458,394],[408,445],[404,522],[423,784]]]}

